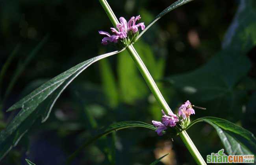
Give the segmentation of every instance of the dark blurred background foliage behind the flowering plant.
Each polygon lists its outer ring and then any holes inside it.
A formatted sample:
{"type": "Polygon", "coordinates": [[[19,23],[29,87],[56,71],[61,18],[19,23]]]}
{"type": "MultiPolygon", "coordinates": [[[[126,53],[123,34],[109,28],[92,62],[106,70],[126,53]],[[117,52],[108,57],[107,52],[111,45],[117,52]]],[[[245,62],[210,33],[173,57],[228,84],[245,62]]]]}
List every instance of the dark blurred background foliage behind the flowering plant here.
{"type": "MultiPolygon", "coordinates": [[[[140,21],[147,26],[173,2],[109,0],[109,5],[117,17],[141,15],[140,21]]],[[[249,63],[232,60],[237,56],[234,52],[223,56],[226,62],[214,63],[225,47],[223,40],[238,6],[239,0],[195,0],[163,16],[134,45],[174,112],[189,99],[207,108],[196,109],[192,119],[221,117],[255,134],[256,42],[243,52],[249,63]],[[204,65],[208,66],[204,73],[186,74],[204,65]],[[231,72],[217,74],[225,70],[223,66],[231,72]],[[209,77],[214,70],[217,75],[209,77]],[[229,76],[236,77],[230,88],[219,81],[232,79],[229,76]]],[[[6,109],[40,84],[115,50],[100,44],[98,30],[109,31],[110,27],[97,0],[1,0],[0,68],[8,57],[13,55],[13,59],[0,84],[0,129],[15,116],[6,109]]],[[[255,24],[249,30],[255,32],[255,24]]],[[[24,165],[28,158],[37,165],[62,165],[98,128],[115,121],[151,123],[160,118],[160,106],[124,51],[85,70],[58,99],[50,118],[35,123],[0,164],[24,165]]],[[[199,123],[188,134],[204,158],[223,148],[210,125],[199,123]]],[[[146,165],[166,153],[171,154],[161,162],[164,165],[195,164],[181,139],[173,140],[143,128],[124,129],[86,147],[74,164],[146,165]]]]}

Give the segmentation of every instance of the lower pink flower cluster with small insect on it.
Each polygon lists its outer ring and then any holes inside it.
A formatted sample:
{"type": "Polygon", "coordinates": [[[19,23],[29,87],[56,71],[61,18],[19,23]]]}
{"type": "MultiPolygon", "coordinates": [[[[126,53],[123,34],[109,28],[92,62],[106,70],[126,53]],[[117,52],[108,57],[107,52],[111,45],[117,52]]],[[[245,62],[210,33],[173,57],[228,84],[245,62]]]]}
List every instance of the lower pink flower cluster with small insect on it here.
{"type": "Polygon", "coordinates": [[[175,127],[176,124],[186,117],[189,117],[191,114],[195,114],[195,110],[192,108],[190,101],[186,101],[183,105],[180,106],[178,110],[178,116],[175,114],[168,113],[168,115],[163,112],[162,121],[152,121],[153,125],[157,127],[157,134],[159,136],[163,135],[163,131],[167,130],[168,127],[175,127]],[[180,119],[180,120],[179,120],[180,119]]]}

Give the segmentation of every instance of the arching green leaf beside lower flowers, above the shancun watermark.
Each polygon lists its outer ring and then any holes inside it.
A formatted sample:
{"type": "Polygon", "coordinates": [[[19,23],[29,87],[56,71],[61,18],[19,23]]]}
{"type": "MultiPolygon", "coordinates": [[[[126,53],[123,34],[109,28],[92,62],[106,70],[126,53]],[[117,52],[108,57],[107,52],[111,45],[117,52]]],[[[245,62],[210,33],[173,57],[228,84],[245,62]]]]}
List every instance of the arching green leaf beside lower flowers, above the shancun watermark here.
{"type": "Polygon", "coordinates": [[[188,128],[200,121],[215,128],[228,154],[245,155],[256,152],[256,138],[248,130],[217,117],[201,117],[191,122],[188,128]]]}

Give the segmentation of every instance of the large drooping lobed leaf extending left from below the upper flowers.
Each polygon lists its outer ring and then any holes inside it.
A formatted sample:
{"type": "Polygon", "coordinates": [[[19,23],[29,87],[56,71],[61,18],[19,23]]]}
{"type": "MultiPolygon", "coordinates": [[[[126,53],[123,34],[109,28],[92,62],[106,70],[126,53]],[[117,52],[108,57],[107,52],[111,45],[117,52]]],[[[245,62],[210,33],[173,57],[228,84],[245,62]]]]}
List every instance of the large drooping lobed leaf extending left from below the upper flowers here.
{"type": "Polygon", "coordinates": [[[6,129],[0,132],[0,159],[2,159],[12,147],[17,145],[22,136],[39,116],[42,116],[42,122],[46,121],[60,94],[81,72],[83,72],[83,70],[94,62],[117,54],[123,50],[124,49],[113,51],[84,61],[42,84],[39,88],[11,106],[7,111],[17,108],[21,108],[21,110],[7,125],[6,129]]]}

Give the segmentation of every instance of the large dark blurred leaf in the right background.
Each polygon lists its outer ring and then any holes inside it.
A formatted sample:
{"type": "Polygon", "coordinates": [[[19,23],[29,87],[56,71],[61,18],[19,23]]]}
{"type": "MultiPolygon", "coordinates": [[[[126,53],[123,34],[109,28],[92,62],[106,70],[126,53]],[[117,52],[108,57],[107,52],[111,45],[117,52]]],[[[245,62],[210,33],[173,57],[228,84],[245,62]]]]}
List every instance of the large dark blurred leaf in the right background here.
{"type": "Polygon", "coordinates": [[[192,98],[193,102],[204,106],[207,104],[211,115],[221,116],[223,111],[220,113],[216,109],[224,110],[236,121],[238,118],[234,117],[241,115],[241,106],[246,104],[248,88],[241,88],[239,83],[251,68],[246,54],[256,45],[255,20],[255,0],[241,0],[223,41],[223,49],[204,66],[166,80],[185,98],[192,98]]]}

